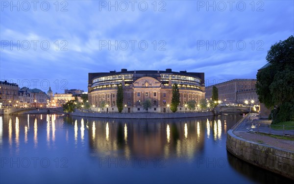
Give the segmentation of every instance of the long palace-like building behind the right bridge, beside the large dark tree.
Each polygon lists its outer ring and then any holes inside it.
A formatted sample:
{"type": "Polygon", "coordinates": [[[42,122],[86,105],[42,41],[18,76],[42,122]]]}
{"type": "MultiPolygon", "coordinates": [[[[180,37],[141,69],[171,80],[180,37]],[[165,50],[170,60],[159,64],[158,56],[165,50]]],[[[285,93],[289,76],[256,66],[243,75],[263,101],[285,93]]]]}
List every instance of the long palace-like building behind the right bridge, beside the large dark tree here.
{"type": "MultiPolygon", "coordinates": [[[[233,79],[230,81],[216,84],[219,90],[219,100],[225,103],[258,104],[258,95],[256,94],[256,79],[233,79]]],[[[205,87],[205,98],[208,100],[212,97],[212,87],[205,87]]]]}

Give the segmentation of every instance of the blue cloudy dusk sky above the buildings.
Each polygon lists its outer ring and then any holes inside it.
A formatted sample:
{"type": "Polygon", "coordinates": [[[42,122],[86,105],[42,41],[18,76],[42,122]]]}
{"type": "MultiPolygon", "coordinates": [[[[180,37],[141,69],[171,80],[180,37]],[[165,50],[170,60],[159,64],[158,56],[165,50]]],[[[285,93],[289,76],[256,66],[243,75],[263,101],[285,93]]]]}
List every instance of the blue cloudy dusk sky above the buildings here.
{"type": "Polygon", "coordinates": [[[293,0],[0,2],[0,80],[54,93],[123,68],[205,72],[206,86],[255,78],[294,34],[293,0]]]}

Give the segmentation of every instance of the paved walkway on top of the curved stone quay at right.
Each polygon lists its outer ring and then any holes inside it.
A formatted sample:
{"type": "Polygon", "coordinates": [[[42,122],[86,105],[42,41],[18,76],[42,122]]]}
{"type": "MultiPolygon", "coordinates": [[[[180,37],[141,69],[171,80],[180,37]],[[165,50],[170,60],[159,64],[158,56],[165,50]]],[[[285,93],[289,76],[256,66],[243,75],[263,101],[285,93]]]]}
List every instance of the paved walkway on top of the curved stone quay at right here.
{"type": "Polygon", "coordinates": [[[270,129],[269,120],[261,120],[257,116],[258,114],[252,113],[249,114],[244,121],[235,128],[233,134],[240,138],[250,140],[259,144],[265,144],[277,148],[282,148],[286,150],[294,151],[294,141],[281,139],[281,138],[272,138],[266,135],[256,134],[256,132],[274,134],[274,135],[289,135],[294,136],[294,130],[273,130],[270,129]]]}

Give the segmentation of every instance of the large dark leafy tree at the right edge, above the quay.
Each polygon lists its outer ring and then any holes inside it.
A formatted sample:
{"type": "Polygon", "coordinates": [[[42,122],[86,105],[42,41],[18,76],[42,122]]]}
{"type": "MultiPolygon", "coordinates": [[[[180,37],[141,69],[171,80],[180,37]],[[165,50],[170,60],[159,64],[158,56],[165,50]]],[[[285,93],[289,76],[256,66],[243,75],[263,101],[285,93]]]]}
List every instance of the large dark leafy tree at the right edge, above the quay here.
{"type": "Polygon", "coordinates": [[[294,37],[275,43],[266,57],[269,66],[258,71],[256,93],[272,110],[273,123],[294,120],[294,37]],[[274,108],[275,107],[275,108],[274,108]]]}

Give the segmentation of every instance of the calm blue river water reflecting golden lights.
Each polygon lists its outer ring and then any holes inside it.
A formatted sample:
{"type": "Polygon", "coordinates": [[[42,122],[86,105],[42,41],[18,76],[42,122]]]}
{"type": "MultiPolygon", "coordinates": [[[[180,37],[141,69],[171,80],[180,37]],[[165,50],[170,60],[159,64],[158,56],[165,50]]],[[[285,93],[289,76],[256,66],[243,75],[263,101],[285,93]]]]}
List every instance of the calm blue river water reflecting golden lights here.
{"type": "Polygon", "coordinates": [[[0,183],[287,183],[226,151],[241,115],[0,116],[0,183]]]}

